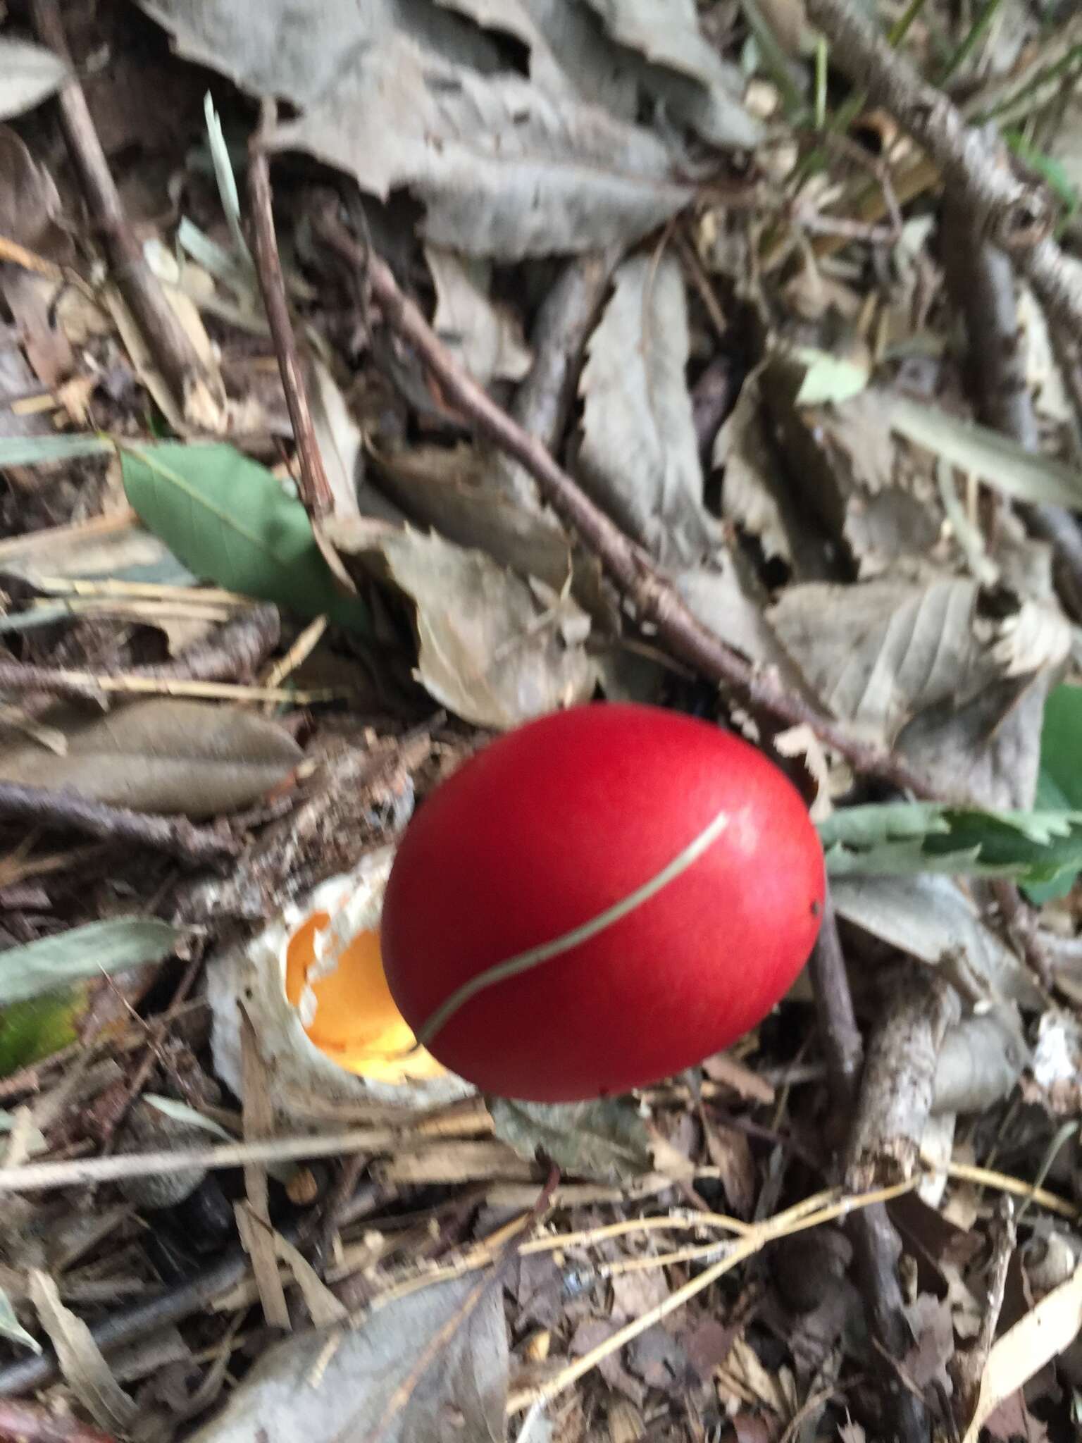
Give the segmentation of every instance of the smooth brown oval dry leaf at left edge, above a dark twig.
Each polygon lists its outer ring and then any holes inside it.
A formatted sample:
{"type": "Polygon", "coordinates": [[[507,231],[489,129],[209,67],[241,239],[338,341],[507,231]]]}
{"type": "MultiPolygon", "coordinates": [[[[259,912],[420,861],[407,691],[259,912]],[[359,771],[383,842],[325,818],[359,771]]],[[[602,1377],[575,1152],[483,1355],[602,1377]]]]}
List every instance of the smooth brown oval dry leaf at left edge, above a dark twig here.
{"type": "Polygon", "coordinates": [[[300,762],[290,733],[239,707],[160,697],[101,714],[55,707],[65,756],[30,742],[0,747],[0,779],[63,788],[134,811],[214,817],[264,797],[300,762]]]}

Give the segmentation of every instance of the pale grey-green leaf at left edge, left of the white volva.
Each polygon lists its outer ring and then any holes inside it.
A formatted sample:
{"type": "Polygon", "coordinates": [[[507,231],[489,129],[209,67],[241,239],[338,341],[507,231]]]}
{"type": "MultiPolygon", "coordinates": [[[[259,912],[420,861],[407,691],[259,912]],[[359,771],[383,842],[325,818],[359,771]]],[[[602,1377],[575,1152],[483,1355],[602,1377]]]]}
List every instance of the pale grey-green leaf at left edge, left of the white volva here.
{"type": "Polygon", "coordinates": [[[102,971],[123,973],[144,962],[160,962],[183,935],[153,916],[120,916],[9,947],[0,952],[0,1004],[40,997],[53,987],[98,977],[102,971]]]}

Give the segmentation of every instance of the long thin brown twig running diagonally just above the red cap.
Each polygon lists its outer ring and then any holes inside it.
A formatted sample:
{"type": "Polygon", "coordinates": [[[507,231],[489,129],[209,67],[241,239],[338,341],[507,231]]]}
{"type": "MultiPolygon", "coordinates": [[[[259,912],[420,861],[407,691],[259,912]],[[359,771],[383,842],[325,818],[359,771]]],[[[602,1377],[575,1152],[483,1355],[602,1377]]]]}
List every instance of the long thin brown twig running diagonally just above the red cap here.
{"type": "Polygon", "coordinates": [[[462,369],[420,309],[398,289],[391,268],[378,255],[365,251],[329,208],[316,216],[316,228],[327,245],[364,274],[388,325],[414,348],[439,381],[444,400],[529,472],[544,499],[599,557],[616,586],[635,605],[639,618],[658,628],[677,657],[718,685],[736,688],[753,707],[770,713],[786,726],[809,726],[827,746],[845,756],[856,771],[880,776],[918,797],[935,795],[931,782],[920,772],[886,747],[863,740],[850,727],[824,716],[802,697],[788,691],[772,671],[759,671],[704,626],[664,573],[589,499],[551,452],[524,431],[462,369]]]}

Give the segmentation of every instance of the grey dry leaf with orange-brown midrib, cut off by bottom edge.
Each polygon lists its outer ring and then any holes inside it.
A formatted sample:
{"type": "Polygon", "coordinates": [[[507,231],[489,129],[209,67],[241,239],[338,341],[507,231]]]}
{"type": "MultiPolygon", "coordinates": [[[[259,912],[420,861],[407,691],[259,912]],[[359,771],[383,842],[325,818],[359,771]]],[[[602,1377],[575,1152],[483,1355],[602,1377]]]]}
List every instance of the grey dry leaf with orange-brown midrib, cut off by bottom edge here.
{"type": "Polygon", "coordinates": [[[506,1375],[501,1289],[467,1274],[388,1303],[356,1329],[271,1348],[192,1443],[489,1443],[505,1437],[506,1375]]]}

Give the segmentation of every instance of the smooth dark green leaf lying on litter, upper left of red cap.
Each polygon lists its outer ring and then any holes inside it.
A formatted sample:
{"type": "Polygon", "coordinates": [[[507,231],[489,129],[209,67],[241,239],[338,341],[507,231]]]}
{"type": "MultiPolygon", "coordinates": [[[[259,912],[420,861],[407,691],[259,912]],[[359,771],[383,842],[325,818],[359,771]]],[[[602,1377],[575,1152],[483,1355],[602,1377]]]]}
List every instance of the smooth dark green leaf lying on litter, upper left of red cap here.
{"type": "Polygon", "coordinates": [[[198,576],[300,616],[368,629],[358,597],[342,596],[302,504],[265,466],[232,446],[121,449],[124,492],[140,521],[198,576]]]}

